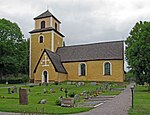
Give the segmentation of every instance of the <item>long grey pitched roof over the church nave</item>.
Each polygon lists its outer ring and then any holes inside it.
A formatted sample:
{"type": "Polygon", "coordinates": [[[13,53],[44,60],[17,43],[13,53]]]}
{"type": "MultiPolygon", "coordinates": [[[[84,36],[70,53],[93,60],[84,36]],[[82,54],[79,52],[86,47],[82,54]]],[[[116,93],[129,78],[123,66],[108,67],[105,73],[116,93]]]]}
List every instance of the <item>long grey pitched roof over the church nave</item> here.
{"type": "Polygon", "coordinates": [[[101,59],[124,59],[123,41],[102,42],[87,45],[60,47],[57,54],[61,62],[75,62],[101,59]]]}

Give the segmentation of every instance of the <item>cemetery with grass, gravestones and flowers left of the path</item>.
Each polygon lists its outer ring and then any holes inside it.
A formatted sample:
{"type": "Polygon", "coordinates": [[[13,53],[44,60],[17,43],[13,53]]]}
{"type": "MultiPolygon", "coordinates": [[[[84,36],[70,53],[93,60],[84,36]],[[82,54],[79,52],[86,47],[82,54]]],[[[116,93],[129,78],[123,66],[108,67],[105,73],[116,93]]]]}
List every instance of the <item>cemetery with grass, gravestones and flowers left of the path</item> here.
{"type": "Polygon", "coordinates": [[[44,114],[84,112],[113,99],[126,85],[111,82],[0,84],[0,111],[44,114]]]}

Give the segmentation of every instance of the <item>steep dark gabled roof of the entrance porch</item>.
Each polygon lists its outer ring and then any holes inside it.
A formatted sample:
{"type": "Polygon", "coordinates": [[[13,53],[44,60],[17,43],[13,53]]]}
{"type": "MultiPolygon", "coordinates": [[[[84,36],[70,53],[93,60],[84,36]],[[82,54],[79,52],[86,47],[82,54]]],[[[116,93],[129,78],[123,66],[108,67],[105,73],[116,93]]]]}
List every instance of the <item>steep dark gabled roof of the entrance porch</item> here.
{"type": "Polygon", "coordinates": [[[53,64],[56,72],[66,73],[67,74],[67,71],[65,70],[63,64],[61,63],[60,56],[58,54],[54,53],[54,52],[51,52],[51,51],[47,50],[47,49],[44,49],[44,51],[43,51],[43,53],[42,53],[42,55],[41,55],[37,65],[36,65],[36,67],[34,69],[34,73],[36,72],[36,69],[37,69],[37,67],[38,67],[38,65],[39,65],[39,63],[41,61],[41,58],[42,58],[44,52],[47,53],[47,55],[48,55],[49,59],[51,60],[51,62],[53,64]]]}

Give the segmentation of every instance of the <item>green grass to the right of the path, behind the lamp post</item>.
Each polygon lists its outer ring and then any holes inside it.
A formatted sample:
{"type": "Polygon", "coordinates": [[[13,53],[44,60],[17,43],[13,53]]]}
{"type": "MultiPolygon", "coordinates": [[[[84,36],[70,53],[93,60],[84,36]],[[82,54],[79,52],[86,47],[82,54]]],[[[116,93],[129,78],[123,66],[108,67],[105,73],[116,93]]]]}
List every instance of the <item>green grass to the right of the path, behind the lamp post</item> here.
{"type": "Polygon", "coordinates": [[[150,115],[150,92],[148,87],[136,86],[134,93],[134,109],[130,108],[130,115],[150,115]]]}

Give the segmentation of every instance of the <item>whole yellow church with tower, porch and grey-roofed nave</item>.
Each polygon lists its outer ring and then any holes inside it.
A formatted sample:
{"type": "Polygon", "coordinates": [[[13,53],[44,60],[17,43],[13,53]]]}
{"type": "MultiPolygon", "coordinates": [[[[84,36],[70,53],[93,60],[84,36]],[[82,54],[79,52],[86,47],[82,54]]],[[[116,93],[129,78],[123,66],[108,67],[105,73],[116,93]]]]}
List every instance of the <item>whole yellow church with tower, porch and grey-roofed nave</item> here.
{"type": "Polygon", "coordinates": [[[49,10],[30,31],[30,82],[124,81],[124,42],[64,46],[61,22],[49,10]]]}

